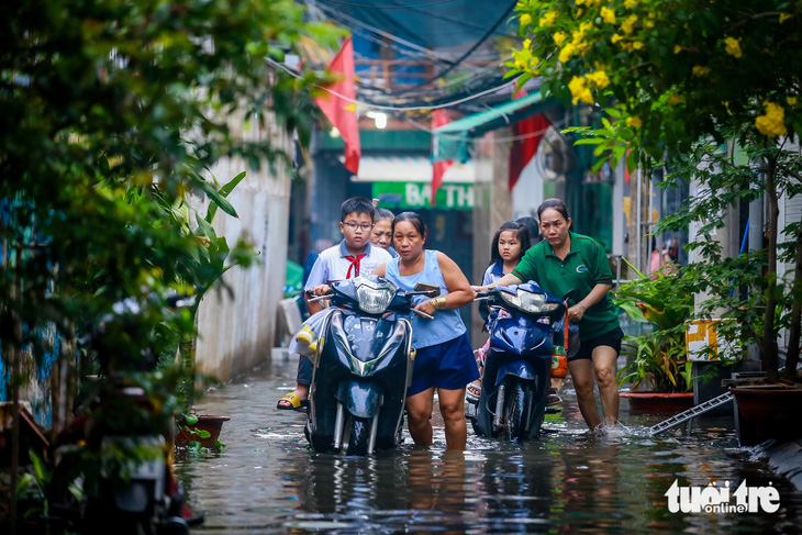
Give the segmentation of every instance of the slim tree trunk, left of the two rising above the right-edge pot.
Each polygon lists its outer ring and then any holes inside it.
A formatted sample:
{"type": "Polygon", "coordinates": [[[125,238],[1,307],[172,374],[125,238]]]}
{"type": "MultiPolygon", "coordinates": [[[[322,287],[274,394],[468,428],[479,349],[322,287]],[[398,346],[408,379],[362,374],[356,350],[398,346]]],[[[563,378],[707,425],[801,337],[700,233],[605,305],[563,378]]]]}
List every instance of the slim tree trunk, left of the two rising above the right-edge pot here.
{"type": "Polygon", "coordinates": [[[766,274],[766,319],[764,321],[764,334],[760,361],[764,371],[768,374],[770,382],[779,379],[777,360],[777,335],[775,334],[775,315],[777,309],[777,219],[780,216],[780,207],[777,199],[777,159],[769,158],[766,167],[766,194],[769,199],[769,247],[768,269],[766,274]]]}

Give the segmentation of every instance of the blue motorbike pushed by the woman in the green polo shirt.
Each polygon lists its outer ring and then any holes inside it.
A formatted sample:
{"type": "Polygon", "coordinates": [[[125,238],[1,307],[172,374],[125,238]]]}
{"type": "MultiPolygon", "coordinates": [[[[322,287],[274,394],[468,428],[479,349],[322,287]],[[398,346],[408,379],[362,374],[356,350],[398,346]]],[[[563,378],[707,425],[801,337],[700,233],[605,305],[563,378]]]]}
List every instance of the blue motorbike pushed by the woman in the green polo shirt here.
{"type": "Polygon", "coordinates": [[[494,287],[478,293],[479,299],[498,311],[490,323],[481,394],[466,405],[466,417],[479,436],[534,438],[546,413],[553,323],[564,317],[566,303],[533,281],[494,287]]]}

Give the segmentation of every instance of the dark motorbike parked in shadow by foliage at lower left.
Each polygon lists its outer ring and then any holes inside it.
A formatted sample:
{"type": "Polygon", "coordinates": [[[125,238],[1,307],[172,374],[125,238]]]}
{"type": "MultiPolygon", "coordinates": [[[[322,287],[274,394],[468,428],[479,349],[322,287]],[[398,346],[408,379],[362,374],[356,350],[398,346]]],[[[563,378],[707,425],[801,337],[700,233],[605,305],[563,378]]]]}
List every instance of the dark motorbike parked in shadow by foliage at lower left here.
{"type": "MultiPolygon", "coordinates": [[[[178,298],[172,304],[186,305],[178,298]]],[[[146,333],[127,321],[140,313],[135,301],[114,309],[78,339],[98,357],[101,372],[85,384],[77,416],[57,437],[60,460],[48,492],[52,520],[87,534],[189,535],[203,517],[189,511],[171,473],[172,414],[165,410],[165,397],[142,382],[158,356],[119,345],[121,333],[146,333]]]]}

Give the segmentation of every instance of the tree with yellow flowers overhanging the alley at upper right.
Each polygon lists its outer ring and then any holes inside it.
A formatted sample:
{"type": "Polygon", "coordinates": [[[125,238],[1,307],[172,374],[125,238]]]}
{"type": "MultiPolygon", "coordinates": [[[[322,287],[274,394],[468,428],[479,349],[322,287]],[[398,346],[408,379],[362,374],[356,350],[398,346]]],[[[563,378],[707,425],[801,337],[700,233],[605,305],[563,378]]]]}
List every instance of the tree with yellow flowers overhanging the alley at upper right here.
{"type": "MultiPolygon", "coordinates": [[[[700,141],[715,146],[725,136],[750,147],[759,172],[750,174],[745,189],[743,180],[701,180],[735,190],[726,197],[732,204],[757,197],[749,182],[757,183],[769,202],[766,321],[758,342],[764,368],[776,378],[777,201],[783,192],[795,194],[800,182],[786,148],[802,133],[802,3],[522,0],[516,11],[525,40],[512,53],[511,74],[522,75],[521,82],[543,77],[542,90],[565,102],[606,107],[603,127],[578,142],[598,145],[598,156],[620,159],[631,149],[632,167],[690,154],[700,141]]],[[[691,201],[684,224],[721,208],[715,194],[691,201]]],[[[789,291],[799,292],[800,283],[789,291]]],[[[798,335],[799,313],[791,327],[798,335]]]]}

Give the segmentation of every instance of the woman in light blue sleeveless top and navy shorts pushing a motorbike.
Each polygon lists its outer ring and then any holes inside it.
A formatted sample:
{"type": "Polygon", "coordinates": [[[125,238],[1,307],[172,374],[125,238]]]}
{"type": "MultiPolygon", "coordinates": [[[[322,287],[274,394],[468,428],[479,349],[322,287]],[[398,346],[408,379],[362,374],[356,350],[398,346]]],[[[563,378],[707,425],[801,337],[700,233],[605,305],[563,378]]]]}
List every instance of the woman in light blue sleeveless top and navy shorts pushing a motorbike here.
{"type": "Polygon", "coordinates": [[[415,309],[433,320],[412,316],[412,347],[417,353],[412,382],[406,389],[410,434],[419,446],[432,445],[432,410],[437,390],[448,449],[465,449],[465,386],[479,377],[467,330],[457,309],[474,301],[474,291],[459,266],[443,253],[424,249],[426,225],[414,212],[392,222],[398,257],[379,266],[374,275],[386,277],[411,291],[419,282],[439,287],[439,296],[415,298],[415,309]]]}

